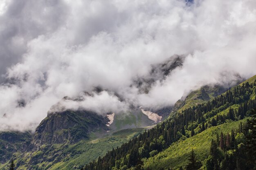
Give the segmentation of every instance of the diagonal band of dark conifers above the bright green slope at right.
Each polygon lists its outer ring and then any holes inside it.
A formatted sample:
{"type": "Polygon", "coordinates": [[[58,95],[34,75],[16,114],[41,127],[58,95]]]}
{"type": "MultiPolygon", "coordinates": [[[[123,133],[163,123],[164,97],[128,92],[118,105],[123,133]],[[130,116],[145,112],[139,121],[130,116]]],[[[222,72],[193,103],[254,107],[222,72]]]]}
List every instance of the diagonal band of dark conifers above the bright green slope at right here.
{"type": "Polygon", "coordinates": [[[168,148],[182,136],[193,136],[211,126],[223,124],[227,119],[238,120],[248,115],[248,111],[256,107],[256,82],[248,82],[236,86],[223,95],[207,102],[198,104],[172,119],[163,121],[121,147],[112,149],[104,157],[99,157],[85,165],[83,170],[141,170],[143,158],[153,157],[168,148]],[[218,115],[221,111],[237,104],[237,109],[230,108],[227,114],[218,115]]]}

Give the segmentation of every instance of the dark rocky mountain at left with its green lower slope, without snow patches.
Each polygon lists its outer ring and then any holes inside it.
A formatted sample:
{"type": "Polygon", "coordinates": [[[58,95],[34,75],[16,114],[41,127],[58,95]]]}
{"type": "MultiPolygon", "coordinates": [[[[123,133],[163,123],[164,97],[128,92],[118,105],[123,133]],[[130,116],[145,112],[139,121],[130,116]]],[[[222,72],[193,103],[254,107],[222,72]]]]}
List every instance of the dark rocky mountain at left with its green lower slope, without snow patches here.
{"type": "MultiPolygon", "coordinates": [[[[54,170],[60,167],[63,170],[80,169],[83,164],[103,156],[111,148],[120,146],[145,130],[130,128],[112,132],[107,126],[108,122],[107,117],[86,110],[49,113],[36,128],[36,132],[29,134],[27,141],[19,143],[20,147],[15,150],[9,150],[6,159],[1,158],[3,164],[0,169],[6,167],[7,160],[11,158],[15,159],[20,170],[54,170]]],[[[12,132],[5,138],[11,140],[10,138],[14,137],[12,132]]],[[[23,138],[12,141],[18,146],[18,142],[23,141],[23,138]]]]}

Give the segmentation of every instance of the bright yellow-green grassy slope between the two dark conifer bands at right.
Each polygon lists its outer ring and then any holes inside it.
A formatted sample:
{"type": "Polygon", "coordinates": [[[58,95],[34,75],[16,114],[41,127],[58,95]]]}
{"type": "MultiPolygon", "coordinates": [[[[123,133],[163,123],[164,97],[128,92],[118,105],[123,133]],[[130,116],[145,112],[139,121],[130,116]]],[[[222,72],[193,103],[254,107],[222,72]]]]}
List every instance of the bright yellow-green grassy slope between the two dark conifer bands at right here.
{"type": "Polygon", "coordinates": [[[245,119],[229,121],[225,124],[208,128],[190,138],[184,137],[183,141],[177,141],[163,152],[146,159],[144,161],[144,167],[145,169],[148,167],[150,169],[167,169],[169,167],[177,168],[178,166],[184,166],[186,165],[191,149],[195,151],[197,159],[202,161],[208,157],[211,140],[216,139],[216,134],[220,134],[220,132],[231,132],[232,129],[238,128],[240,122],[245,122],[245,119]]]}

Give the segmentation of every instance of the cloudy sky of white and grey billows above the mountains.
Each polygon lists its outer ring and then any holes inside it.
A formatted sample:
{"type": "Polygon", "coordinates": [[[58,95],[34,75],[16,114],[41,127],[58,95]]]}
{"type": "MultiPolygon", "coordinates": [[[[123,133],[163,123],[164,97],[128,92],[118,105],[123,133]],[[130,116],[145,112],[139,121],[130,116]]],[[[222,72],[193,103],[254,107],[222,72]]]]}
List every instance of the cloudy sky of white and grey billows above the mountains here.
{"type": "Polygon", "coordinates": [[[247,79],[255,28],[255,0],[0,0],[0,130],[35,130],[56,103],[121,114],[247,79]],[[175,55],[182,66],[139,91],[175,55]]]}

